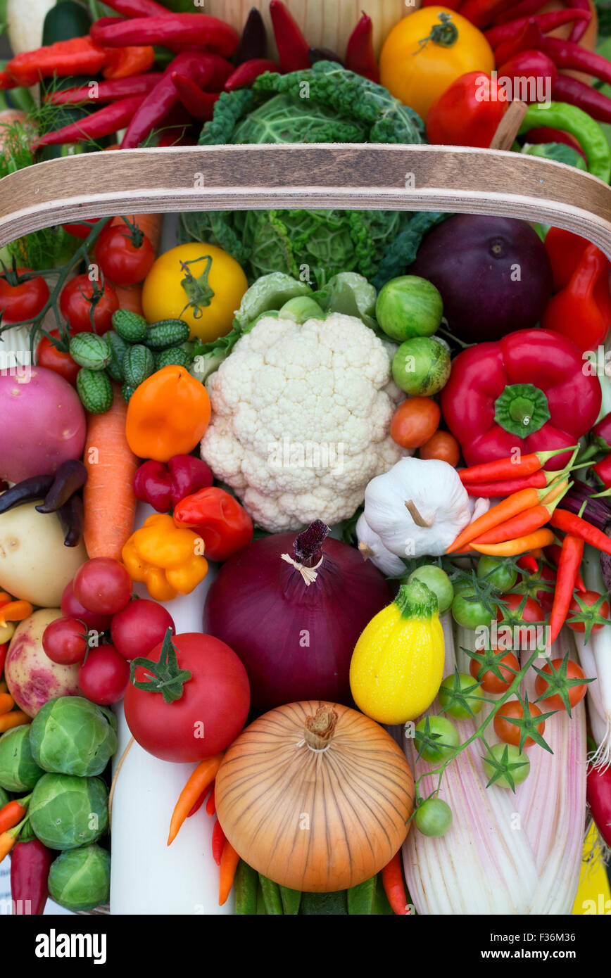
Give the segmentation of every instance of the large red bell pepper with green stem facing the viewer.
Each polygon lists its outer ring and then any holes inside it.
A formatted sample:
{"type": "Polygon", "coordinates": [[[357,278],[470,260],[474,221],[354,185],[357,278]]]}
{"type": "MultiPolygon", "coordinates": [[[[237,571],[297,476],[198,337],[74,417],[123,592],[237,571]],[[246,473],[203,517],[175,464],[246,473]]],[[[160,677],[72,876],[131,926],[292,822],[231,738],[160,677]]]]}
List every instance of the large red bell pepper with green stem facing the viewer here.
{"type": "MultiPolygon", "coordinates": [[[[585,374],[572,340],[549,330],[519,330],[477,343],[452,362],[442,412],[468,466],[531,452],[569,448],[600,411],[597,377],[585,374]]],[[[568,465],[567,451],[545,468],[568,465]]]]}

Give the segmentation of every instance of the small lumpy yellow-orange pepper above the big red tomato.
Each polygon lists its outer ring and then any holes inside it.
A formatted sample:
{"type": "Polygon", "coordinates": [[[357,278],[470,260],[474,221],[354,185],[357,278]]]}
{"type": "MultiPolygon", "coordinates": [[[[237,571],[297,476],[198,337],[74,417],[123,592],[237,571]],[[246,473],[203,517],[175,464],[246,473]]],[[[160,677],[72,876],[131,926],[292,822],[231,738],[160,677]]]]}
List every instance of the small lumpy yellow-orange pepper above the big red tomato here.
{"type": "Polygon", "coordinates": [[[156,601],[191,594],[208,573],[202,538],[193,530],[178,529],[162,513],[149,516],[132,533],[121,557],[132,581],[146,584],[156,601]]]}

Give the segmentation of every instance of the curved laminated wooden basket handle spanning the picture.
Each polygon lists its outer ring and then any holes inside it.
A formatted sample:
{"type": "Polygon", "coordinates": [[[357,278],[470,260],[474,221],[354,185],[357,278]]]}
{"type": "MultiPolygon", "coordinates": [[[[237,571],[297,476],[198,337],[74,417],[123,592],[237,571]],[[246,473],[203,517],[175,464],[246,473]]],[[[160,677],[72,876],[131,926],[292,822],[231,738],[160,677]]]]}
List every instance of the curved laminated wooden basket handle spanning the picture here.
{"type": "Polygon", "coordinates": [[[118,150],[0,180],[0,246],[109,214],[268,207],[499,214],[565,228],[611,258],[611,188],[563,163],[470,147],[308,144],[118,150]]]}

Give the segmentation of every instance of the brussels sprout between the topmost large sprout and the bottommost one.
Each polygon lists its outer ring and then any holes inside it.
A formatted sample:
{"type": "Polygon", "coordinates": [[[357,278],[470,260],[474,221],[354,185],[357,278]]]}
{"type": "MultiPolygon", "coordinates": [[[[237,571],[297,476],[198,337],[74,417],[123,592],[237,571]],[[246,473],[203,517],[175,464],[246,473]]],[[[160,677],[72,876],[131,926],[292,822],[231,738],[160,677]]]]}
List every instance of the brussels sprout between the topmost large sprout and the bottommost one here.
{"type": "Polygon", "coordinates": [[[49,849],[96,842],[108,828],[108,789],[101,778],[43,775],[32,791],[29,822],[49,849]]]}

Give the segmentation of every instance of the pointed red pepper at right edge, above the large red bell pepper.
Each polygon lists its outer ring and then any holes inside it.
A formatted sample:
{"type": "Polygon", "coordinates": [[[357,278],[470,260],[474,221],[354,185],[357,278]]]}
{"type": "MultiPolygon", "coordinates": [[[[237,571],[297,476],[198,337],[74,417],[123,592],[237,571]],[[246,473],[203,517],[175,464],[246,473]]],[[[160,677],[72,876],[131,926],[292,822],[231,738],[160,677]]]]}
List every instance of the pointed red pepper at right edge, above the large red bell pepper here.
{"type": "Polygon", "coordinates": [[[595,350],[611,326],[611,262],[595,244],[587,244],[570,282],[547,303],[544,330],[572,339],[581,350],[595,350]]]}

